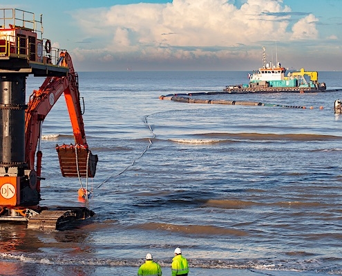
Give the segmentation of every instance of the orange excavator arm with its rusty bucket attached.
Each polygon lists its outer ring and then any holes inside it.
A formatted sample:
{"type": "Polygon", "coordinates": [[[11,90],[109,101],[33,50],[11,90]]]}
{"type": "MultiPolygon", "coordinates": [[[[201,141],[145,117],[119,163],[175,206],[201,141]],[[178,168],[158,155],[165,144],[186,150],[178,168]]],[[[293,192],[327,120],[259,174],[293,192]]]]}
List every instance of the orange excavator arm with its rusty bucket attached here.
{"type": "Polygon", "coordinates": [[[39,141],[41,125],[62,93],[70,116],[75,137],[75,145],[56,146],[59,165],[64,177],[94,177],[97,155],[88,149],[82,110],[79,100],[78,77],[68,52],[64,53],[64,66],[69,68],[66,77],[47,77],[39,90],[34,90],[28,102],[25,118],[25,158],[31,170],[34,170],[35,152],[37,150],[38,186],[41,174],[41,151],[39,141]]]}

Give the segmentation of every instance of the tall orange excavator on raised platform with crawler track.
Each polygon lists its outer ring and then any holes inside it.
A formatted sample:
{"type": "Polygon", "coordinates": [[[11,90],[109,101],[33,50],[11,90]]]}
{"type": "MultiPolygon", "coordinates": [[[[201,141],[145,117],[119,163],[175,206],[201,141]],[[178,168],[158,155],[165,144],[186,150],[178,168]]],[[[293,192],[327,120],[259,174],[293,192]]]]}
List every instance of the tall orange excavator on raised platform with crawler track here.
{"type": "MultiPolygon", "coordinates": [[[[5,8],[0,9],[0,23],[0,221],[63,230],[95,214],[85,207],[39,206],[44,179],[41,127],[64,94],[75,145],[56,146],[61,173],[79,179],[95,177],[98,159],[86,142],[77,72],[68,52],[51,47],[50,40],[42,37],[41,17],[37,21],[31,12],[5,8]],[[30,74],[46,79],[26,104],[30,74]]],[[[82,190],[87,197],[88,191],[82,190]]]]}

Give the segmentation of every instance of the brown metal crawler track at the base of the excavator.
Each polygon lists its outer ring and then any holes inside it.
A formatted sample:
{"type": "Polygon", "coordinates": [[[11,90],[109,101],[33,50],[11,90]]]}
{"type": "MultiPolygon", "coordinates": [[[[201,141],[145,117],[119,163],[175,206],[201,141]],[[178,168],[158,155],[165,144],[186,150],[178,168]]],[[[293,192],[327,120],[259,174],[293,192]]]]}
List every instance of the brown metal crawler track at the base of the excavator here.
{"type": "Polygon", "coordinates": [[[42,210],[41,213],[28,219],[28,229],[67,230],[74,228],[84,219],[93,217],[95,213],[85,207],[58,207],[54,210],[42,210]]]}

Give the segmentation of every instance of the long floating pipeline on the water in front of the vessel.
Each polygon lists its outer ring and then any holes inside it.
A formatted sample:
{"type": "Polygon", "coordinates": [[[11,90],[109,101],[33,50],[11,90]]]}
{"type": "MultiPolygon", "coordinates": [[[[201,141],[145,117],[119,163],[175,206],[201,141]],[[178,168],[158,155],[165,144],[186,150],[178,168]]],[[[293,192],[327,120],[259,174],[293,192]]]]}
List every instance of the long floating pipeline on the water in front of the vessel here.
{"type": "MultiPolygon", "coordinates": [[[[225,99],[193,99],[190,97],[180,97],[180,94],[167,95],[167,96],[162,95],[159,97],[159,99],[179,101],[182,103],[211,103],[211,104],[227,104],[227,105],[233,105],[233,106],[269,106],[269,107],[278,107],[278,108],[301,108],[301,109],[306,108],[305,106],[286,106],[283,104],[260,103],[257,101],[229,101],[225,99]]],[[[310,106],[310,109],[314,109],[314,106],[310,106]]],[[[323,109],[323,106],[320,106],[319,109],[323,109]]]]}

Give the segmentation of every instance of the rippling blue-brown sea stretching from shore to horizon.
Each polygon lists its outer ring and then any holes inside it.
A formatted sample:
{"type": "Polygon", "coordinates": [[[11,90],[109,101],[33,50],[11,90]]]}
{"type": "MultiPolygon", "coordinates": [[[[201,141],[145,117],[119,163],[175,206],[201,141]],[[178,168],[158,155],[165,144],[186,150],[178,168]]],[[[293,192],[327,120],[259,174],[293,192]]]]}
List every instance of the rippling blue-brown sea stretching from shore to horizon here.
{"type": "MultiPolygon", "coordinates": [[[[75,143],[62,95],[43,124],[40,206],[95,217],[0,223],[0,275],[137,275],[146,253],[171,275],[176,247],[189,276],[342,275],[342,72],[319,72],[326,92],[222,93],[247,74],[78,72],[96,175],[61,176],[55,146],[75,143]],[[175,94],[263,104],[161,97],[175,94]]],[[[26,97],[43,81],[28,77],[26,97]]]]}

